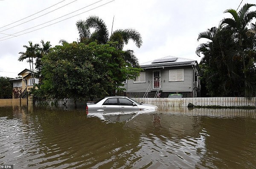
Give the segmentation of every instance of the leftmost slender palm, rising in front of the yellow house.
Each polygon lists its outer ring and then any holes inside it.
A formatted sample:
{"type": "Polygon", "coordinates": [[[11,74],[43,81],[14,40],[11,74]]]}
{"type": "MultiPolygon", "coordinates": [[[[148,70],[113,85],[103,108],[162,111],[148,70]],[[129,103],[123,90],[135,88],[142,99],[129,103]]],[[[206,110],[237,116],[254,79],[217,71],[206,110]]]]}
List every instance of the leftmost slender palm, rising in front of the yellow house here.
{"type": "Polygon", "coordinates": [[[34,77],[34,62],[33,58],[36,57],[37,52],[39,50],[39,44],[33,45],[31,41],[29,41],[29,46],[24,45],[24,48],[26,48],[26,52],[19,52],[20,57],[18,58],[19,61],[23,61],[25,59],[28,59],[27,62],[29,62],[30,71],[32,72],[33,77],[33,84],[35,84],[35,77],[34,77]],[[31,70],[31,64],[32,64],[32,70],[31,70]]]}

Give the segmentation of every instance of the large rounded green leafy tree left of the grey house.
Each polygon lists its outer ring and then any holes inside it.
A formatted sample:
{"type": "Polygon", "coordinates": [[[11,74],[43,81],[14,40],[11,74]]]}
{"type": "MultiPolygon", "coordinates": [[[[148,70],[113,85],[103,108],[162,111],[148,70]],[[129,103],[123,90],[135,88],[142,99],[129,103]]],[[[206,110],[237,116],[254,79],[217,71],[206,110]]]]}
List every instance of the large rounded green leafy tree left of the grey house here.
{"type": "Polygon", "coordinates": [[[42,58],[44,84],[41,90],[54,98],[75,99],[112,95],[125,79],[134,79],[140,69],[126,66],[116,43],[63,43],[42,58]]]}

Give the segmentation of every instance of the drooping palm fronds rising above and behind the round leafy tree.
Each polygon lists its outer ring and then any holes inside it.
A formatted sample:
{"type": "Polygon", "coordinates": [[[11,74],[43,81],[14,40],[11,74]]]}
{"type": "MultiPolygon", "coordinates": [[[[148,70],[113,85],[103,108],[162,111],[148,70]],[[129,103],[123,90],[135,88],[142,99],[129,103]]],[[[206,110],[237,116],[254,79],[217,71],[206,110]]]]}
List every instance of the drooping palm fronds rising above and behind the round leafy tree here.
{"type": "MultiPolygon", "coordinates": [[[[79,20],[76,23],[79,31],[79,40],[89,44],[96,41],[98,44],[106,44],[108,41],[118,42],[116,47],[123,50],[129,40],[133,40],[138,48],[142,45],[142,37],[135,29],[118,29],[110,36],[105,22],[97,16],[90,16],[87,20],[79,20]],[[94,31],[91,32],[91,29],[94,31]]],[[[127,64],[138,67],[139,63],[132,50],[124,51],[124,58],[127,64]]]]}

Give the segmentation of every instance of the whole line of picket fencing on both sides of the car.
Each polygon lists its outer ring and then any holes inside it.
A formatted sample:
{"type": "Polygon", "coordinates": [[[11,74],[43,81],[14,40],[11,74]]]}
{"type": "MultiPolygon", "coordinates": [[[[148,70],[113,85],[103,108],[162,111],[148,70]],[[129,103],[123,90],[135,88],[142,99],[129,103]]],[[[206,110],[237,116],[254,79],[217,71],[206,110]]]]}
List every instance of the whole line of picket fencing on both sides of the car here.
{"type": "MultiPolygon", "coordinates": [[[[254,106],[256,97],[188,97],[188,98],[132,98],[137,102],[153,104],[158,107],[186,107],[189,103],[195,106],[254,106]]],[[[26,105],[26,99],[0,99],[0,106],[22,106],[26,105]]],[[[57,101],[58,105],[72,106],[73,99],[62,99],[57,101]]],[[[84,107],[85,101],[77,101],[78,107],[84,107]]]]}

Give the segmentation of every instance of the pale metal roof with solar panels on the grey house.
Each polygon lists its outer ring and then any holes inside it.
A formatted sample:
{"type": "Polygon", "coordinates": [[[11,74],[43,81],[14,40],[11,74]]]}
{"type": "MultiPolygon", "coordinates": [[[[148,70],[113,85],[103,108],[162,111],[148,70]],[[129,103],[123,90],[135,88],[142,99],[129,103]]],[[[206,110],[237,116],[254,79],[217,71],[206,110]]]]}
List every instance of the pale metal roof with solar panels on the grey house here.
{"type": "Polygon", "coordinates": [[[164,68],[164,67],[174,67],[174,66],[195,66],[198,70],[197,60],[186,59],[182,57],[166,56],[159,59],[151,60],[140,64],[142,69],[153,69],[153,68],[164,68]]]}

